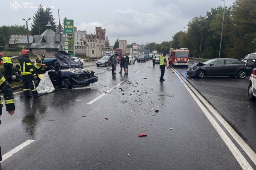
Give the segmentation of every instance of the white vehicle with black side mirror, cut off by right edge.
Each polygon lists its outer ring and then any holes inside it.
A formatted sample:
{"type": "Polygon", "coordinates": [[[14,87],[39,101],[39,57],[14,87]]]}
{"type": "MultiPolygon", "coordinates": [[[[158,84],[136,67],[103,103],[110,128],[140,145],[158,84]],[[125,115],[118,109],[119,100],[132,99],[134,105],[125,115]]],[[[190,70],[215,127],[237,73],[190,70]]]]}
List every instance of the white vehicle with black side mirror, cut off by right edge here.
{"type": "Polygon", "coordinates": [[[246,67],[252,68],[252,74],[250,76],[248,85],[248,97],[250,100],[256,100],[256,62],[253,62],[253,59],[247,59],[246,67]]]}

